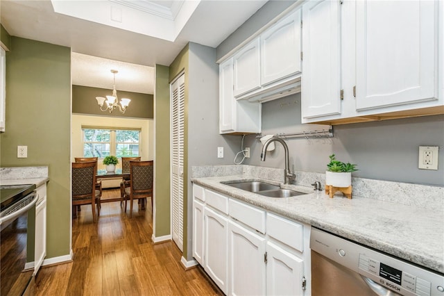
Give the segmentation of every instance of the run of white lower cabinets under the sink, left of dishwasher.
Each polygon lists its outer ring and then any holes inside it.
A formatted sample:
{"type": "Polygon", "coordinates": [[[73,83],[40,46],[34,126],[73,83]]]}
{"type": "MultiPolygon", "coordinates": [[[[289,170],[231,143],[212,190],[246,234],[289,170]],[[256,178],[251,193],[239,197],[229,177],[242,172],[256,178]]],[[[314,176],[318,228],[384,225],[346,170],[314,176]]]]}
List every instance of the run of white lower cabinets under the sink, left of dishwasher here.
{"type": "Polygon", "coordinates": [[[310,225],[193,188],[194,258],[223,293],[311,295],[310,225]]]}

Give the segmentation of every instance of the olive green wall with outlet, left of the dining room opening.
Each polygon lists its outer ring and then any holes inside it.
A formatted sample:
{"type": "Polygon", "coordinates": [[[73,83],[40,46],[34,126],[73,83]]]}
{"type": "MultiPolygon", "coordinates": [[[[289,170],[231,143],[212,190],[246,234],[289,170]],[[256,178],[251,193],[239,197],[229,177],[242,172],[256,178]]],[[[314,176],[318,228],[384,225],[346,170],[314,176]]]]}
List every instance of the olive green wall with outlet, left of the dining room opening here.
{"type": "Polygon", "coordinates": [[[70,252],[71,50],[12,37],[6,54],[1,167],[48,166],[46,258],[70,252]],[[17,145],[28,158],[17,158],[17,145]]]}

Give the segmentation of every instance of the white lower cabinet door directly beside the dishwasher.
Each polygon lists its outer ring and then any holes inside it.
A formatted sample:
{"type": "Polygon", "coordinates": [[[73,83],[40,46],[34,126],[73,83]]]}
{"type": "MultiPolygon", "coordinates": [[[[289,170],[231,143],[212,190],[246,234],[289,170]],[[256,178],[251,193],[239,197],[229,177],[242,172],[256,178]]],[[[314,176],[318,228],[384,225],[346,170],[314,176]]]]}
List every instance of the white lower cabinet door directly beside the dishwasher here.
{"type": "Polygon", "coordinates": [[[304,295],[301,258],[267,242],[266,295],[304,295]]]}

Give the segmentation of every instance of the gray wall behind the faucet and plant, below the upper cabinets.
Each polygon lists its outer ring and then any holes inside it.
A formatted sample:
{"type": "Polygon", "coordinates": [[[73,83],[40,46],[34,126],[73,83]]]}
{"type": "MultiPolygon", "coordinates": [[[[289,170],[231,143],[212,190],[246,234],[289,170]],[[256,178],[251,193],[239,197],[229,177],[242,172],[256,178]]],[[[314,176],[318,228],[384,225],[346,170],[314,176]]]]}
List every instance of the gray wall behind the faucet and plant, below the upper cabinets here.
{"type": "MultiPolygon", "coordinates": [[[[307,125],[300,123],[300,94],[262,104],[262,135],[300,131],[301,126],[307,125]]],[[[340,161],[357,164],[353,176],[444,186],[444,115],[334,126],[332,139],[293,138],[287,145],[295,170],[325,172],[334,153],[340,161]],[[420,145],[441,147],[437,171],[418,169],[420,145]]],[[[284,167],[279,143],[265,162],[260,161],[262,144],[255,135],[246,136],[245,146],[251,147],[246,164],[284,167]]]]}

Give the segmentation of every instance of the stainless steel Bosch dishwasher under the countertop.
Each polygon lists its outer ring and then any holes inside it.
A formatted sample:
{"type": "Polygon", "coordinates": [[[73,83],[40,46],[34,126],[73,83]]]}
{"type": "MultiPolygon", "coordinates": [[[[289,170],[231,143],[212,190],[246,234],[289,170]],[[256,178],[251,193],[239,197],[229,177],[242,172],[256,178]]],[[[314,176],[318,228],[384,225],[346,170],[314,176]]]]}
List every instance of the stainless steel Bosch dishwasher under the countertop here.
{"type": "Polygon", "coordinates": [[[311,295],[439,295],[444,274],[311,228],[311,295]]]}

